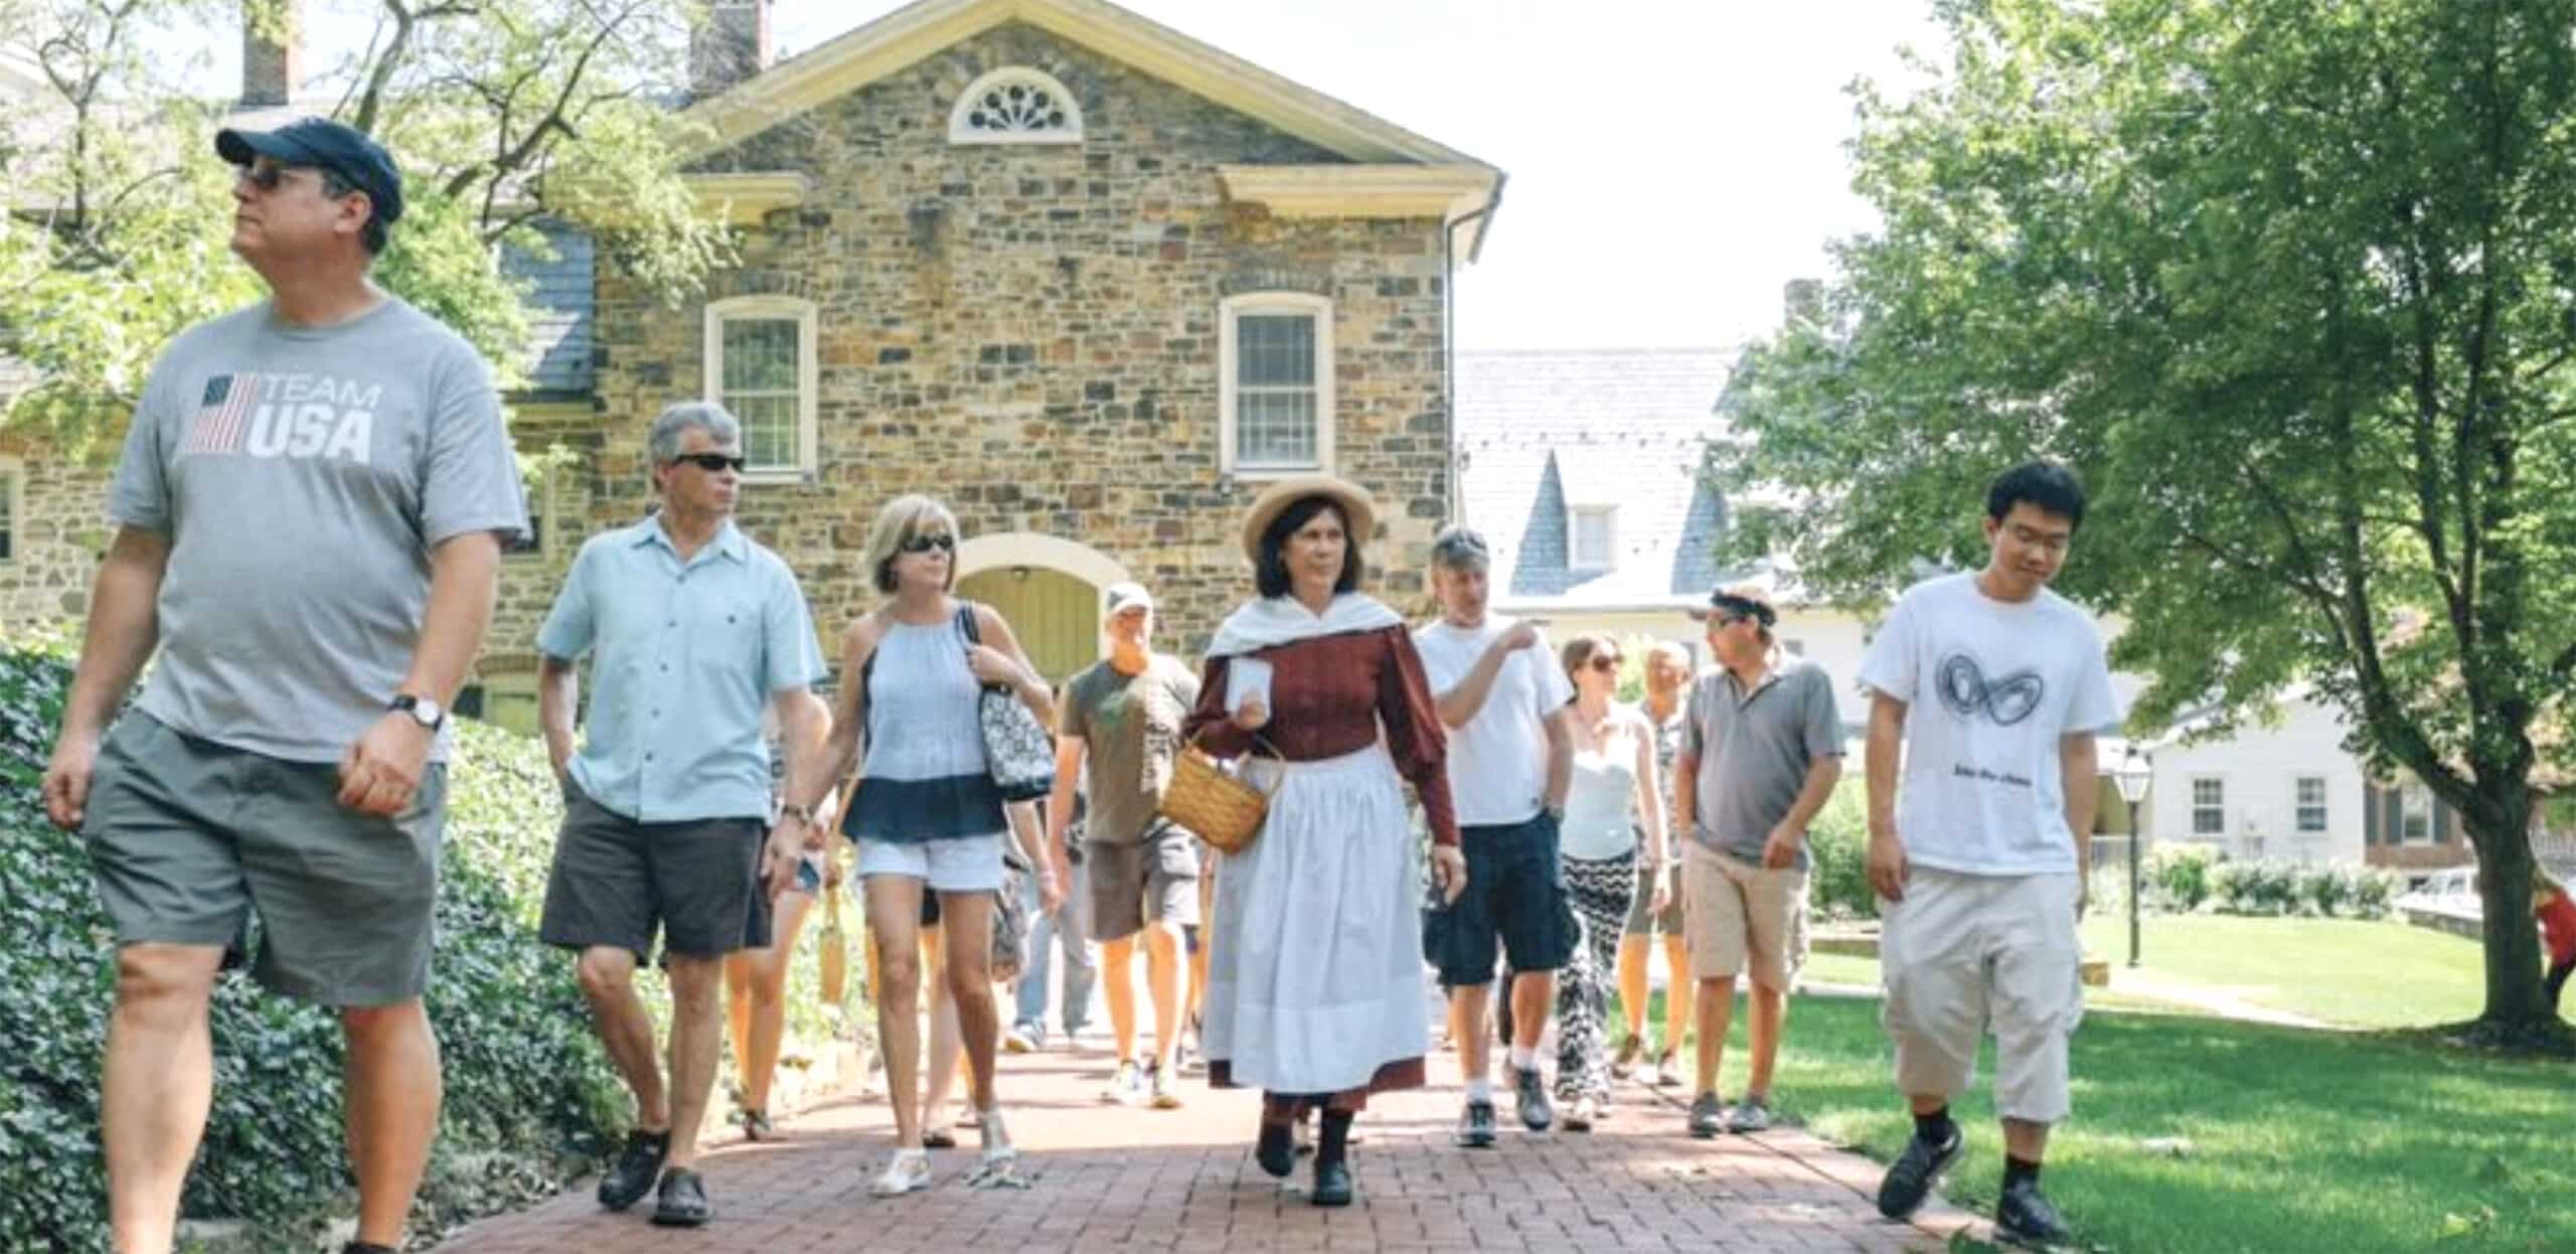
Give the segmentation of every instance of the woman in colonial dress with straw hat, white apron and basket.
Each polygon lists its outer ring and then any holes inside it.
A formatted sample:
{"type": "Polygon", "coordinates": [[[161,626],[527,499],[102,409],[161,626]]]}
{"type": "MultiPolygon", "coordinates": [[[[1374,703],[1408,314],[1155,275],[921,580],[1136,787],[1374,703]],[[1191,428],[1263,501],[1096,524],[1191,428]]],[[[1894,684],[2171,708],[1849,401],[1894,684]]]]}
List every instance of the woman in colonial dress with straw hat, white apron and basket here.
{"type": "Polygon", "coordinates": [[[1293,1128],[1321,1107],[1314,1205],[1350,1205],[1350,1120],[1368,1094],[1422,1084],[1422,878],[1399,778],[1432,834],[1432,878],[1466,888],[1445,734],[1404,621],[1363,595],[1376,507],[1334,476],[1283,479],[1244,518],[1260,597],[1208,646],[1185,721],[1242,757],[1270,796],[1252,845],[1216,878],[1206,1058],[1216,1087],[1260,1087],[1255,1159],[1296,1166],[1293,1128]]]}

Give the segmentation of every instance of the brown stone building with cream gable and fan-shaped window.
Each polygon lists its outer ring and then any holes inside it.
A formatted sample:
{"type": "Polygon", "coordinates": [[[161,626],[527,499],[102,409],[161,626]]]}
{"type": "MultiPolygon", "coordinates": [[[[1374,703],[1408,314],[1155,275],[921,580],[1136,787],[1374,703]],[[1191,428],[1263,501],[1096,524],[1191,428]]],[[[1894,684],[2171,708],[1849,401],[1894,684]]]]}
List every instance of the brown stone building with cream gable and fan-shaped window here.
{"type": "MultiPolygon", "coordinates": [[[[958,512],[961,592],[1059,677],[1115,579],[1195,651],[1283,474],[1365,484],[1373,587],[1419,600],[1455,500],[1450,273],[1499,170],[1105,0],[920,0],[775,64],[768,3],[726,0],[693,75],[693,185],[739,265],[665,306],[569,232],[515,257],[544,306],[515,433],[562,453],[461,706],[533,721],[562,569],[649,510],[647,425],[693,397],[744,420],[742,525],[835,646],[902,492],[958,512]]],[[[0,461],[10,626],[80,613],[106,541],[100,482],[36,466],[0,461]]]]}

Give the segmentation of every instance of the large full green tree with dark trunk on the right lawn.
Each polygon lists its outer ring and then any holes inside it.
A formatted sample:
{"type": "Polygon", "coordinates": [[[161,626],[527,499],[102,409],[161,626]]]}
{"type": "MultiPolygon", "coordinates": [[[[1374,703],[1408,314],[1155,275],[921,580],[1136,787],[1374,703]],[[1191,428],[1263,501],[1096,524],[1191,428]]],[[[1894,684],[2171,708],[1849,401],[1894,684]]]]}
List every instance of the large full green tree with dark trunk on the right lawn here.
{"type": "Polygon", "coordinates": [[[2476,1035],[2563,1040],[2530,824],[2576,718],[2576,3],[1940,15],[1924,90],[1855,90],[1883,229],[1723,402],[1710,474],[1775,489],[1728,543],[1865,605],[1981,559],[1994,471],[2076,463],[2063,587],[2128,621],[2133,721],[2313,685],[2463,816],[2476,1035]]]}

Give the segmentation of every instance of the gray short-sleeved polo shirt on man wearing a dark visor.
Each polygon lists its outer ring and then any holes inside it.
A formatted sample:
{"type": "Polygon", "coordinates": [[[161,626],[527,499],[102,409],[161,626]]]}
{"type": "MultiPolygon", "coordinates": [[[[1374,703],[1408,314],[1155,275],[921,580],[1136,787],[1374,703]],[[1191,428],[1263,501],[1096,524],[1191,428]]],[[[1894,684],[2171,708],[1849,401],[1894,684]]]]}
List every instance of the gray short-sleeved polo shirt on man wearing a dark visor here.
{"type": "MultiPolygon", "coordinates": [[[[1749,693],[1726,667],[1690,685],[1682,752],[1700,760],[1690,839],[1747,863],[1762,860],[1819,757],[1842,757],[1834,680],[1811,662],[1762,677],[1749,693]]],[[[1806,850],[1798,850],[1806,870],[1806,850]]]]}

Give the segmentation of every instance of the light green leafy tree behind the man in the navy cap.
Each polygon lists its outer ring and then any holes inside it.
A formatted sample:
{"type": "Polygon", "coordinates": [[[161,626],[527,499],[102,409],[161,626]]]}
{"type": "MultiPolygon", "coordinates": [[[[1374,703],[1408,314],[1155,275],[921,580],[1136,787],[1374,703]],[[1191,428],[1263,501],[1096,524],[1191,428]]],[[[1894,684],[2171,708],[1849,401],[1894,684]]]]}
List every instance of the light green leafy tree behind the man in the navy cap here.
{"type": "MultiPolygon", "coordinates": [[[[376,281],[456,327],[502,381],[526,348],[526,291],[497,245],[544,247],[541,216],[677,299],[729,257],[680,180],[667,108],[696,0],[374,0],[374,33],[319,82],[330,116],[404,165],[407,206],[376,281]]],[[[0,348],[33,371],[0,422],[59,448],[124,430],[178,330],[258,296],[227,252],[232,178],[209,142],[229,100],[183,90],[204,57],[167,31],[229,41],[240,21],[294,39],[281,0],[0,0],[0,348]],[[247,18],[245,18],[247,15],[247,18]],[[160,39],[157,39],[160,36],[160,39]]]]}

